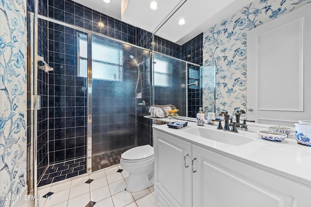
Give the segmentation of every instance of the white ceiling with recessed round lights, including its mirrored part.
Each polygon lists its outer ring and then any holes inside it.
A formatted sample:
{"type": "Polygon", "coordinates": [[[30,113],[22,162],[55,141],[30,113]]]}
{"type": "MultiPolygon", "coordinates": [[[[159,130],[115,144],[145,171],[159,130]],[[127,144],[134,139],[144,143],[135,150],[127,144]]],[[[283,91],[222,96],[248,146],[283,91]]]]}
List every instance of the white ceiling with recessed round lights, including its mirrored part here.
{"type": "Polygon", "coordinates": [[[253,0],[156,0],[157,10],[149,8],[152,0],[74,1],[183,45],[253,0]],[[185,25],[178,25],[180,18],[185,25]]]}

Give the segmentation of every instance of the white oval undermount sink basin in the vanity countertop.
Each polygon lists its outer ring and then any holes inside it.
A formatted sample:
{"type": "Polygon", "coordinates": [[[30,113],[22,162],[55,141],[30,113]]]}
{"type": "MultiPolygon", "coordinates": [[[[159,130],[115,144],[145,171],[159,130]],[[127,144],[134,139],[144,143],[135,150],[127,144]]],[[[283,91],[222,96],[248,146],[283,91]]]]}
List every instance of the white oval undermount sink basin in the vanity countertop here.
{"type": "Polygon", "coordinates": [[[224,133],[223,131],[212,130],[203,127],[192,127],[185,129],[184,132],[200,136],[209,140],[214,140],[221,143],[239,146],[242,144],[253,142],[254,140],[249,137],[241,136],[239,134],[229,132],[224,133]]]}

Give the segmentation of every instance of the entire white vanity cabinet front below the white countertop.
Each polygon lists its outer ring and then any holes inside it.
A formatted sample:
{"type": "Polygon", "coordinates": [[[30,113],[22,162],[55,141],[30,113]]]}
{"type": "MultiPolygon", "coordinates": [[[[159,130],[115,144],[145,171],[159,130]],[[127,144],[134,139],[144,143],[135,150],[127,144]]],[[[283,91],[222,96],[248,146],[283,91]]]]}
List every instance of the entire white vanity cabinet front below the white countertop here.
{"type": "Polygon", "coordinates": [[[158,130],[154,140],[155,200],[161,207],[311,207],[309,186],[256,163],[158,130]]]}

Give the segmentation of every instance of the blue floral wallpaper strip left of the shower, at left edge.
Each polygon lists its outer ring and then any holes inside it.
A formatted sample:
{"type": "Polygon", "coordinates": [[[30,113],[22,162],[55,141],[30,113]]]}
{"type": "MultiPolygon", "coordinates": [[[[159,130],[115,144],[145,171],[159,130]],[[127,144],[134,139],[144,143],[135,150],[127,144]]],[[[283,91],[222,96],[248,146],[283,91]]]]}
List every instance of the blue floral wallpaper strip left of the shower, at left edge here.
{"type": "MultiPolygon", "coordinates": [[[[26,180],[26,1],[0,2],[0,194],[21,195],[26,180]]],[[[13,206],[0,199],[0,207],[13,206]]]]}

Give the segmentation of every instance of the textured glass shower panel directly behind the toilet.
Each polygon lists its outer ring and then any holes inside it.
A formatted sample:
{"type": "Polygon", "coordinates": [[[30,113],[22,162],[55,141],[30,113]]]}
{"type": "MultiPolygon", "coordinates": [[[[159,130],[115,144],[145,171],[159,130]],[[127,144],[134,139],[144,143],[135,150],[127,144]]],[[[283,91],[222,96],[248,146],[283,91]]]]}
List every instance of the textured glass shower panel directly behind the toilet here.
{"type": "Polygon", "coordinates": [[[92,35],[92,171],[149,143],[141,140],[139,124],[148,113],[149,65],[149,51],[92,35]]]}

